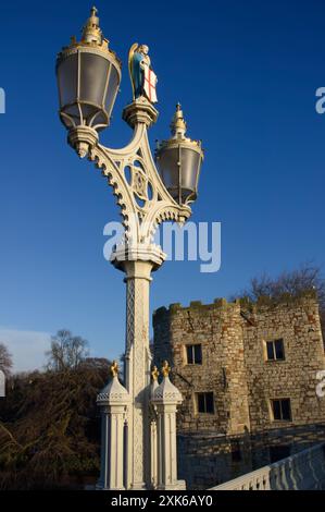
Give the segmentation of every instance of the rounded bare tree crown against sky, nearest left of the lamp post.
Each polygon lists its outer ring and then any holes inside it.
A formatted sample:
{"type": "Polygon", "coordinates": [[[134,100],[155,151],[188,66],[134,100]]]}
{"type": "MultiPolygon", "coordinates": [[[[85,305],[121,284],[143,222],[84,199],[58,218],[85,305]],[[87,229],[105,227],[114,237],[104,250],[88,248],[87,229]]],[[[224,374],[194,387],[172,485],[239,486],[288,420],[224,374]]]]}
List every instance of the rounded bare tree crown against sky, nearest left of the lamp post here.
{"type": "Polygon", "coordinates": [[[51,339],[47,368],[54,371],[77,368],[89,355],[88,342],[70,330],[61,329],[51,339]]]}

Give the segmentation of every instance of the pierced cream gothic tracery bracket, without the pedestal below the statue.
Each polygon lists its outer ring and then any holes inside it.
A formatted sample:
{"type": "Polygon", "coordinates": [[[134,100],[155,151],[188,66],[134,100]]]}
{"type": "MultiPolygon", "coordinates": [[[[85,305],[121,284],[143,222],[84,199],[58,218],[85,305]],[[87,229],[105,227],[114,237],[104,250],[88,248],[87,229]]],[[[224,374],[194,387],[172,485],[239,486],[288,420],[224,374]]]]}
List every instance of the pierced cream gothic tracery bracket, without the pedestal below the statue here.
{"type": "Polygon", "coordinates": [[[160,223],[171,220],[183,224],[190,217],[190,207],[178,205],[161,181],[145,123],[135,126],[124,148],[111,149],[97,142],[90,145],[88,158],[113,187],[126,239],[133,233],[137,244],[151,243],[160,223]]]}

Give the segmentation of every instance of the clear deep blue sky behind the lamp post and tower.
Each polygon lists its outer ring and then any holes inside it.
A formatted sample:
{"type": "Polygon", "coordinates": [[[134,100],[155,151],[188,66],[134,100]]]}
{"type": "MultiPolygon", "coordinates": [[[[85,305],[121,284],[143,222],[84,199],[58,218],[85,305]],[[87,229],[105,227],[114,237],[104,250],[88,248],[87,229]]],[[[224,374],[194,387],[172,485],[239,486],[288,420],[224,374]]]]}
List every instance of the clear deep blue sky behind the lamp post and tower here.
{"type": "MultiPolygon", "coordinates": [[[[55,54],[79,35],[90,3],[3,2],[0,87],[0,340],[16,368],[38,366],[50,333],[65,327],[92,355],[124,348],[123,275],[102,255],[117,220],[111,190],[66,145],[58,119],[55,54]],[[35,333],[35,336],[33,336],[35,333]]],[[[264,271],[313,260],[324,267],[325,86],[322,0],[98,1],[101,27],[123,60],[113,122],[101,141],[121,147],[130,100],[127,52],[150,47],[164,138],[179,100],[205,149],[193,220],[222,222],[222,268],[167,261],[151,308],[228,296],[264,271]]]]}

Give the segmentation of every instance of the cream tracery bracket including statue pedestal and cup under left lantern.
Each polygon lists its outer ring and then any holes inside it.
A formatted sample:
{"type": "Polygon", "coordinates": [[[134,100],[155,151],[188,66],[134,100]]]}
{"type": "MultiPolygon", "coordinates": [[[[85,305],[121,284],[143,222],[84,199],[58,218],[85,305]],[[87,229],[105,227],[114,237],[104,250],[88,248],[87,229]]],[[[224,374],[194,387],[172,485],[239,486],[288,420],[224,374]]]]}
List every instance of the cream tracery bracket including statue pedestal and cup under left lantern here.
{"type": "Polygon", "coordinates": [[[123,119],[134,134],[121,149],[99,144],[98,133],[89,126],[68,133],[68,144],[80,158],[88,156],[113,187],[125,228],[124,243],[133,246],[151,245],[160,223],[171,220],[183,224],[191,215],[189,206],[173,199],[155,168],[147,131],[157,118],[157,109],[145,97],[128,105],[123,119]]]}

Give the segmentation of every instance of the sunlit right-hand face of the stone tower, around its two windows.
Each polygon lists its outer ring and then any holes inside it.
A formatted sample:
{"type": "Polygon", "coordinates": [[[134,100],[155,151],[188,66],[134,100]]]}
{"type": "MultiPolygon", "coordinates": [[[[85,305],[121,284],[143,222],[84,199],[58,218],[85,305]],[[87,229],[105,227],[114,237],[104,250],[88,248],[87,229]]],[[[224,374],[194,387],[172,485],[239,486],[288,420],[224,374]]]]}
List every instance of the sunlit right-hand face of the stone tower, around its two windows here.
{"type": "Polygon", "coordinates": [[[325,420],[325,400],[316,395],[316,373],[325,368],[314,301],[262,307],[243,328],[251,430],[279,428],[270,419],[270,400],[290,398],[293,425],[325,420]],[[265,361],[265,340],[283,338],[285,361],[265,361]]]}

